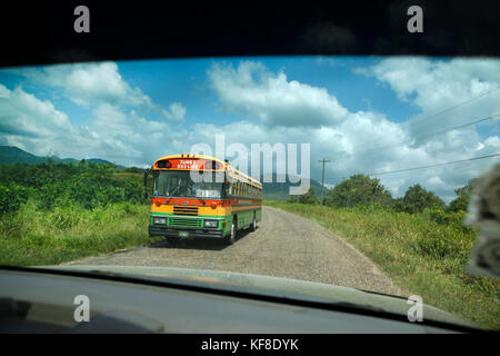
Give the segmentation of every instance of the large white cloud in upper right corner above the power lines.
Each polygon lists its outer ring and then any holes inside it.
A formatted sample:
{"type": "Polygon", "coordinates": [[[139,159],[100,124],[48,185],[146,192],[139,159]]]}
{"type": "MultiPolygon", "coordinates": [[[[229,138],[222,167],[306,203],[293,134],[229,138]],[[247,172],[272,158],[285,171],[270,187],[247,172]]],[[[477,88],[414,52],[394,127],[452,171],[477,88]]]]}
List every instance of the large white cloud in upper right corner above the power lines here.
{"type": "Polygon", "coordinates": [[[389,85],[398,98],[420,108],[421,113],[407,125],[414,136],[500,113],[500,90],[482,96],[500,86],[496,59],[390,58],[354,71],[389,85]]]}

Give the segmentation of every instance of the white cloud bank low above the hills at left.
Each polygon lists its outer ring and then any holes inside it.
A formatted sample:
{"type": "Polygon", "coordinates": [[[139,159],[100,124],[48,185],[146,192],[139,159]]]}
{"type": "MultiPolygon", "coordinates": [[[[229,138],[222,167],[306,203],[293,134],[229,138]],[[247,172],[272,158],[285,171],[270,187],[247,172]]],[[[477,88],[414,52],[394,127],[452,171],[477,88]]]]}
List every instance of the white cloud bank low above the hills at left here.
{"type": "Polygon", "coordinates": [[[93,110],[89,126],[74,126],[50,101],[20,87],[9,90],[0,85],[0,145],[17,146],[37,156],[103,158],[142,166],[158,152],[173,152],[170,140],[181,142],[184,134],[167,122],[147,120],[134,110],[126,112],[109,103],[93,110]]]}

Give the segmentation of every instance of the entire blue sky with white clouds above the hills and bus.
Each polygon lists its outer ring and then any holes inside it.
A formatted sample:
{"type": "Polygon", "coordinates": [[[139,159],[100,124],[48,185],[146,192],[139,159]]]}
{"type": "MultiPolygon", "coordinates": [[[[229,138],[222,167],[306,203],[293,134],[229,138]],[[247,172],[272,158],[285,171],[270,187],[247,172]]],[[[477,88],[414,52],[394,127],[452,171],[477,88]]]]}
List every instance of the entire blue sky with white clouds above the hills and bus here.
{"type": "MultiPolygon", "coordinates": [[[[36,155],[149,166],[228,142],[310,145],[310,176],[403,169],[500,151],[494,59],[251,57],[76,63],[0,70],[0,145],[36,155]],[[448,130],[422,139],[429,134],[448,130]]],[[[496,160],[384,176],[394,196],[419,182],[449,200],[496,160]]],[[[498,161],[498,160],[497,160],[498,161]]],[[[334,181],[329,181],[333,184],[334,181]]]]}

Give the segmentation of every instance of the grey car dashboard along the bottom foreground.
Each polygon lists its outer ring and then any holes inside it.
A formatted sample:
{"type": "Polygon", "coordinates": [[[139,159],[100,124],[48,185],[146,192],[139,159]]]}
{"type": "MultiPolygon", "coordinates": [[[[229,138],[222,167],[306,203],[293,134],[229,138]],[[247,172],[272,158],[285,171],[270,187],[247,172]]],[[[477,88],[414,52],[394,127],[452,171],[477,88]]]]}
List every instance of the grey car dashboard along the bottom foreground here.
{"type": "Polygon", "coordinates": [[[421,323],[192,290],[29,270],[0,270],[0,333],[457,333],[421,323]],[[77,322],[77,296],[89,322],[77,322]]]}

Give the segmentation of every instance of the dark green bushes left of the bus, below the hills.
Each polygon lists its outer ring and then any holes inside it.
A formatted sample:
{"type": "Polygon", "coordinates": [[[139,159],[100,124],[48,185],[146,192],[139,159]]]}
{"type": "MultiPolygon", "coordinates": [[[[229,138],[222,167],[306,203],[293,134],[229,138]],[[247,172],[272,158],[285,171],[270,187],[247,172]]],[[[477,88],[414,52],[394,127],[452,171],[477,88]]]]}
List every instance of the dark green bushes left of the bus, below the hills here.
{"type": "Polygon", "coordinates": [[[80,161],[79,165],[48,162],[31,166],[17,164],[0,166],[0,214],[16,211],[20,205],[12,205],[11,191],[19,194],[22,201],[27,197],[40,210],[50,211],[56,207],[78,206],[84,209],[106,207],[108,204],[129,201],[148,202],[143,198],[140,176],[124,172],[114,177],[117,170],[111,164],[80,161]],[[119,178],[119,179],[118,179],[119,178]]]}

